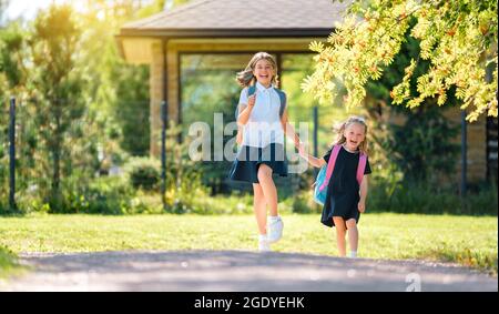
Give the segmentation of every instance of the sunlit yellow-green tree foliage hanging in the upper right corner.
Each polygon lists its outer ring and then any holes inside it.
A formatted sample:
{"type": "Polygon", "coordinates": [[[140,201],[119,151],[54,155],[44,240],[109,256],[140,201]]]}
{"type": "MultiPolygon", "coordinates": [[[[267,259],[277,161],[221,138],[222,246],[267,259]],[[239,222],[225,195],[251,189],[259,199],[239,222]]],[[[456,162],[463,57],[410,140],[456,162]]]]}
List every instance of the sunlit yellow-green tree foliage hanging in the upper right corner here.
{"type": "Polygon", "coordinates": [[[418,40],[420,51],[391,90],[394,104],[416,108],[427,98],[437,98],[442,105],[451,90],[468,121],[481,114],[497,117],[496,0],[353,1],[327,42],[310,43],[317,52],[315,72],[305,79],[303,90],[320,103],[330,103],[346,89],[345,105],[361,105],[366,83],[381,78],[407,32],[418,40]],[[414,78],[421,60],[430,67],[414,78]],[[414,82],[416,97],[410,94],[414,82]]]}

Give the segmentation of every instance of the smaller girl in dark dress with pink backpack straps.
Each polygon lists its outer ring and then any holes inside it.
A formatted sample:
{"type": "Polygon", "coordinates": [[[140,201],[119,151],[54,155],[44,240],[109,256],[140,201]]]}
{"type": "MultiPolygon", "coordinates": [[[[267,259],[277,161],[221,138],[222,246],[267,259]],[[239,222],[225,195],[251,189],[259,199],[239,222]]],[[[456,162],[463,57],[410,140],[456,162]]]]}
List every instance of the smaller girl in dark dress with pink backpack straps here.
{"type": "MultiPolygon", "coordinates": [[[[346,255],[345,234],[348,230],[350,257],[357,256],[358,230],[357,223],[360,213],[366,210],[367,176],[369,174],[369,161],[366,162],[361,183],[357,180],[357,166],[360,152],[367,153],[367,124],[364,119],[350,117],[338,130],[338,139],[334,145],[340,145],[339,153],[328,182],[327,196],[323,207],[320,222],[327,226],[336,226],[337,244],[340,256],[346,255]]],[[[334,148],[334,146],[333,146],[334,148]]],[[[320,168],[326,165],[332,155],[333,148],[322,159],[307,154],[299,150],[307,161],[320,168]]]]}

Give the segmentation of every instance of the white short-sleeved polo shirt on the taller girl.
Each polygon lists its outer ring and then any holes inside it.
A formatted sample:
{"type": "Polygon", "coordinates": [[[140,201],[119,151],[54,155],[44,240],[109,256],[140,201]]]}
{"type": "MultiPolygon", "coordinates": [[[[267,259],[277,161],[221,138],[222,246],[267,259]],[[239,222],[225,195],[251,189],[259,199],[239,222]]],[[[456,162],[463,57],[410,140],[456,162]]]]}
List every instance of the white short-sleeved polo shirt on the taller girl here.
{"type": "MultiPolygon", "coordinates": [[[[241,91],[240,104],[247,105],[247,90],[241,91]]],[[[265,148],[271,143],[284,144],[284,130],[281,124],[281,98],[274,85],[266,89],[256,82],[255,105],[246,125],[243,126],[243,145],[265,148]]]]}

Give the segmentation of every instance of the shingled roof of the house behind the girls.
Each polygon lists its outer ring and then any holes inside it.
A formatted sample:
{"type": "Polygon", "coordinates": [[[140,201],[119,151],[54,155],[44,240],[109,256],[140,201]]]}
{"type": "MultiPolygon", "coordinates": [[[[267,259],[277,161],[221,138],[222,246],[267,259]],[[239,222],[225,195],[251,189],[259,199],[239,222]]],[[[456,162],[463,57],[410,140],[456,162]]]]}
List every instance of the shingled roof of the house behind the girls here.
{"type": "Polygon", "coordinates": [[[327,37],[349,1],[195,0],[121,28],[123,37],[327,37]]]}

